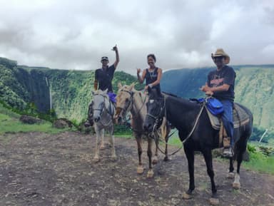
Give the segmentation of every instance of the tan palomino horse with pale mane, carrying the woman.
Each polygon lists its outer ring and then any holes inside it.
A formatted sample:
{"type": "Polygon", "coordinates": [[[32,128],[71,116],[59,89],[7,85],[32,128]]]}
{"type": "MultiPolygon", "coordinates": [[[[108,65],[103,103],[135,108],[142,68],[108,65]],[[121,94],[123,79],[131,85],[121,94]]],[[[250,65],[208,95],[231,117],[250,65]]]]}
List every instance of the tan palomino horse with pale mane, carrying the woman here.
{"type": "MultiPolygon", "coordinates": [[[[146,118],[146,100],[147,96],[142,93],[141,91],[136,91],[134,88],[134,83],[131,86],[122,86],[121,83],[118,83],[118,95],[117,95],[117,104],[116,104],[116,118],[118,118],[118,123],[121,123],[122,120],[126,119],[126,114],[131,112],[131,127],[133,129],[133,135],[136,138],[137,146],[138,146],[138,168],[137,173],[143,173],[143,163],[142,163],[142,136],[144,134],[143,130],[143,122],[146,118]]],[[[162,129],[162,137],[165,138],[166,143],[168,141],[168,133],[169,127],[163,127],[162,129]]],[[[148,161],[149,161],[149,170],[147,177],[153,177],[153,169],[152,163],[156,164],[158,160],[158,139],[156,139],[156,152],[155,157],[153,158],[153,162],[151,162],[152,151],[151,151],[151,144],[152,139],[146,135],[148,140],[148,161]]],[[[166,150],[165,155],[166,157],[164,160],[168,160],[168,150],[166,150]]]]}

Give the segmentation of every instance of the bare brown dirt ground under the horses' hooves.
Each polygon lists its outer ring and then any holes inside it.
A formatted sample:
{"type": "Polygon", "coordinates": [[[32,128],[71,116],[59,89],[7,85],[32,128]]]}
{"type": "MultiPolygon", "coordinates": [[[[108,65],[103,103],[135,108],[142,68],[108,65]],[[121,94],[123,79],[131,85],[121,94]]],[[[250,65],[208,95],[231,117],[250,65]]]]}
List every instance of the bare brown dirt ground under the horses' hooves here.
{"type": "MultiPolygon", "coordinates": [[[[135,140],[116,138],[116,162],[108,147],[101,151],[102,160],[93,163],[94,143],[94,136],[74,132],[0,136],[0,205],[209,205],[210,180],[200,155],[195,195],[183,200],[188,188],[183,150],[168,162],[160,155],[155,176],[147,179],[146,143],[143,175],[136,173],[135,140]]],[[[213,166],[220,205],[274,205],[273,176],[242,169],[241,188],[233,190],[233,180],[226,177],[228,163],[214,160],[213,166]]]]}

